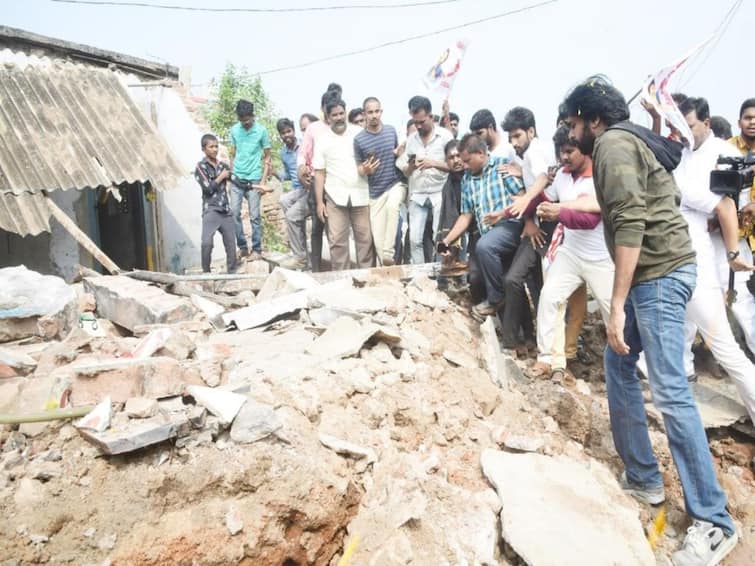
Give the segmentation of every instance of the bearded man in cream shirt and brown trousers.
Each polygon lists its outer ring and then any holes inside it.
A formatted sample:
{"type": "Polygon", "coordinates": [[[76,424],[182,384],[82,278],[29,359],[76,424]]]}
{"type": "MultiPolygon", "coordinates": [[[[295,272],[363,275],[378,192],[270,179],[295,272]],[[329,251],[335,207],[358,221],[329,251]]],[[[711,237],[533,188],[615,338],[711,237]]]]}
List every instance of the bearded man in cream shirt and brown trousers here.
{"type": "Polygon", "coordinates": [[[357,266],[372,267],[370,195],[367,179],[359,174],[354,157],[354,138],[362,129],[346,123],[346,103],[343,100],[329,100],[325,112],[330,128],[317,138],[312,166],[315,170],[317,216],[323,222],[327,218],[331,266],[334,271],[349,269],[351,229],[357,266]]]}

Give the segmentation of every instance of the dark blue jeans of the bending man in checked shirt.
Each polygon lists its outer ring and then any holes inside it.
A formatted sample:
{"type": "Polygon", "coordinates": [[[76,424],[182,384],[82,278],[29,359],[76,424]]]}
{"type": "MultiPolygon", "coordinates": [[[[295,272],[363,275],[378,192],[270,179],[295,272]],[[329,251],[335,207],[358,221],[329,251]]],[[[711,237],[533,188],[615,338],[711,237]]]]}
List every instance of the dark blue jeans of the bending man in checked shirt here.
{"type": "Polygon", "coordinates": [[[503,298],[503,281],[519,247],[521,233],[521,222],[506,220],[480,236],[475,245],[474,255],[485,282],[487,301],[491,305],[503,298]]]}

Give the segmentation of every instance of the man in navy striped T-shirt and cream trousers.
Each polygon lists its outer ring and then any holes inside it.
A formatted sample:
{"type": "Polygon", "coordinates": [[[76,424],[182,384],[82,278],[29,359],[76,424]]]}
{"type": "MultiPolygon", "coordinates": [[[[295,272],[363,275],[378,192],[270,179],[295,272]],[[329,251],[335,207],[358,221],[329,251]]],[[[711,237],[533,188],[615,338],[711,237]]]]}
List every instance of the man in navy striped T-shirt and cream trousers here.
{"type": "Polygon", "coordinates": [[[354,157],[359,174],[370,189],[370,226],[375,252],[382,265],[393,265],[399,207],[406,198],[406,185],[396,169],[398,136],[383,124],[383,109],[374,96],[362,104],[367,124],[354,138],[354,157]]]}

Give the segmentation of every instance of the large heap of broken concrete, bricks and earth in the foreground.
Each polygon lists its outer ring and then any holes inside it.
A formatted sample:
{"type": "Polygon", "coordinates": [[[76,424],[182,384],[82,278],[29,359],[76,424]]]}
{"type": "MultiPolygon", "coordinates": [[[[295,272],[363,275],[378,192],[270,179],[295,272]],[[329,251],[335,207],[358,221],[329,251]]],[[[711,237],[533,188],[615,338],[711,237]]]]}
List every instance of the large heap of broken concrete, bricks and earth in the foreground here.
{"type": "MultiPolygon", "coordinates": [[[[616,482],[599,375],[526,378],[431,266],[260,263],[70,287],[0,270],[46,289],[0,303],[6,564],[653,562],[656,510],[616,482]]],[[[752,454],[714,445],[747,562],[752,454]]],[[[669,495],[655,558],[683,538],[669,495]]]]}

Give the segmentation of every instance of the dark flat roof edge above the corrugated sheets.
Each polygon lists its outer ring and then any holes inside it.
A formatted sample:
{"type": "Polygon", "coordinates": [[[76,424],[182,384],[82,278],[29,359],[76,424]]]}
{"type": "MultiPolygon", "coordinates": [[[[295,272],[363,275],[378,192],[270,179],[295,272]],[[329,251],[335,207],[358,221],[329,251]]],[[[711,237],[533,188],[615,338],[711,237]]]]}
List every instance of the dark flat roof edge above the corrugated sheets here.
{"type": "Polygon", "coordinates": [[[149,78],[178,79],[178,67],[167,63],[158,63],[139,57],[132,57],[116,51],[108,51],[90,45],[65,41],[30,31],[0,25],[0,47],[42,48],[57,54],[67,55],[74,59],[99,64],[103,67],[114,65],[124,71],[146,76],[149,78]]]}

